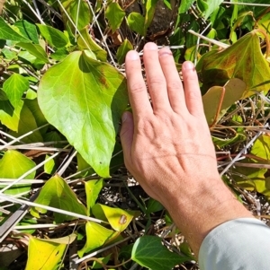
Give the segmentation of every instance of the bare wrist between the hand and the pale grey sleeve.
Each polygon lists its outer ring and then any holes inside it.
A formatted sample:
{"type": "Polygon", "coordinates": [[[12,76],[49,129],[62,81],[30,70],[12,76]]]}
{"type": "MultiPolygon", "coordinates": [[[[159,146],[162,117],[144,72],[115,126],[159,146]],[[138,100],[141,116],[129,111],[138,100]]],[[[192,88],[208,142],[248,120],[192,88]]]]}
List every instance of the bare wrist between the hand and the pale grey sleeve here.
{"type": "Polygon", "coordinates": [[[238,202],[220,178],[205,180],[194,189],[188,193],[181,192],[184,196],[171,196],[164,205],[197,255],[202,240],[212,229],[223,222],[253,215],[238,202]]]}

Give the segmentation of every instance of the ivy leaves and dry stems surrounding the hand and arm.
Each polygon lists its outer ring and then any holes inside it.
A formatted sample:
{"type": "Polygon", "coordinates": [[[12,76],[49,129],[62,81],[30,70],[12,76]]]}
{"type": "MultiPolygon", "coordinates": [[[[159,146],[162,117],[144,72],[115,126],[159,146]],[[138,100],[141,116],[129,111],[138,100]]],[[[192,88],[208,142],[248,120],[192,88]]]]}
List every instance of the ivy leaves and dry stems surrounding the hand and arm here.
{"type": "Polygon", "coordinates": [[[123,164],[124,57],[148,40],[196,64],[220,176],[269,219],[270,4],[246,2],[0,1],[1,270],[198,269],[123,164]]]}

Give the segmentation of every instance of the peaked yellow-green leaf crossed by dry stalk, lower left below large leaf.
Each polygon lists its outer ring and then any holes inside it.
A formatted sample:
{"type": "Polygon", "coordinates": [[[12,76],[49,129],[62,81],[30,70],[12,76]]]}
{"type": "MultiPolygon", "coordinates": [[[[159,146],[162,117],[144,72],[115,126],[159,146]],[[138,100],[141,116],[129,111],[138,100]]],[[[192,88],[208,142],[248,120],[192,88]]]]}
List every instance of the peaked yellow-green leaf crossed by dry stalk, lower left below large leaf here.
{"type": "MultiPolygon", "coordinates": [[[[67,182],[58,175],[52,177],[45,183],[35,203],[49,205],[73,213],[87,214],[85,205],[78,201],[74,191],[67,185],[67,182]]],[[[39,213],[47,213],[47,210],[40,207],[31,208],[32,215],[39,217],[39,213]]],[[[54,213],[54,216],[55,222],[57,223],[76,219],[75,217],[63,213],[54,213]]]]}

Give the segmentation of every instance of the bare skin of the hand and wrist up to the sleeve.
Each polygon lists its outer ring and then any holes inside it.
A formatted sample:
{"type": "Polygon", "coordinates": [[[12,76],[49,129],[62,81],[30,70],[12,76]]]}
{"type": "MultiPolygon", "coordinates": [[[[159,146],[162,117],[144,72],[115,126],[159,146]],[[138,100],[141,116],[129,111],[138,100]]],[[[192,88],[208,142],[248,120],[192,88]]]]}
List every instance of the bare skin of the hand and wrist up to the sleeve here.
{"type": "Polygon", "coordinates": [[[198,256],[202,240],[213,228],[253,215],[220,179],[193,64],[182,66],[183,86],[168,48],[158,51],[149,42],[143,61],[148,88],[138,53],[127,54],[133,115],[122,116],[124,161],[148,196],[166,207],[198,256]]]}

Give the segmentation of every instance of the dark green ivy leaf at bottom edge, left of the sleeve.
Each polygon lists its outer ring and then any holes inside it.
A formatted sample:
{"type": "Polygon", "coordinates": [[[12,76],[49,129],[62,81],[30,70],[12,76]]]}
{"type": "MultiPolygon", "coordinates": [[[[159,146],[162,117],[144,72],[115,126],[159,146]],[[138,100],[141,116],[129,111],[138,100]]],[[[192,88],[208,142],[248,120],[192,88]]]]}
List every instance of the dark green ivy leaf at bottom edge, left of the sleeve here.
{"type": "Polygon", "coordinates": [[[180,256],[169,251],[161,244],[157,236],[142,236],[134,243],[131,258],[139,266],[152,270],[171,270],[175,265],[190,260],[190,257],[180,256]]]}

